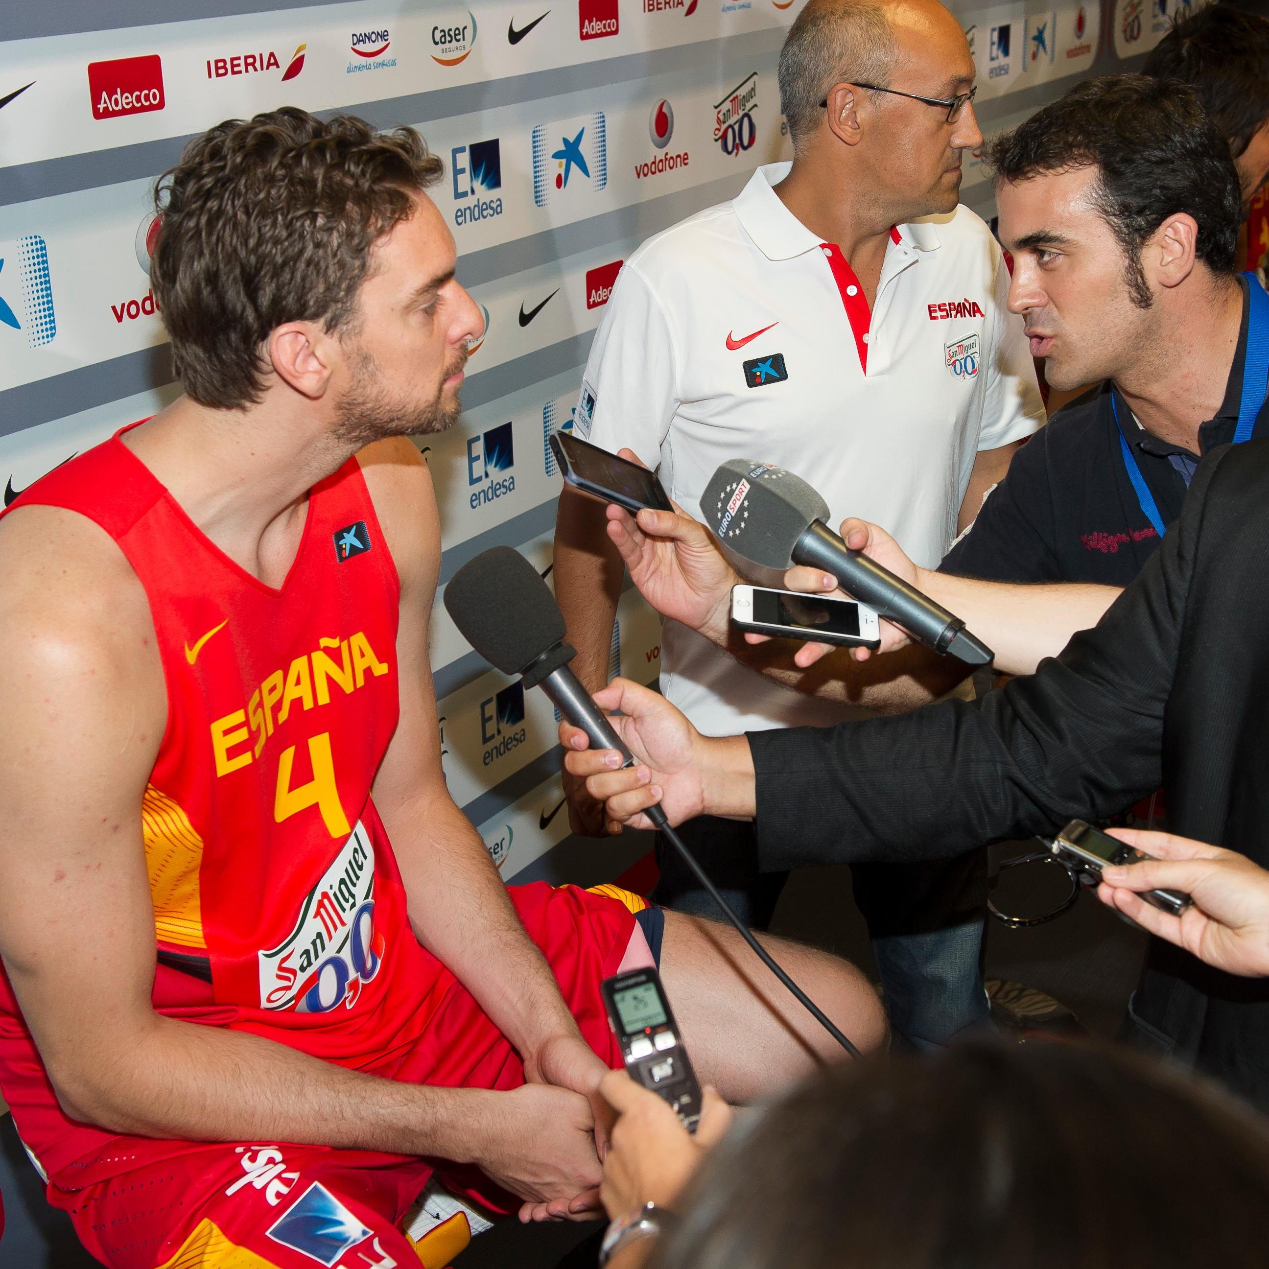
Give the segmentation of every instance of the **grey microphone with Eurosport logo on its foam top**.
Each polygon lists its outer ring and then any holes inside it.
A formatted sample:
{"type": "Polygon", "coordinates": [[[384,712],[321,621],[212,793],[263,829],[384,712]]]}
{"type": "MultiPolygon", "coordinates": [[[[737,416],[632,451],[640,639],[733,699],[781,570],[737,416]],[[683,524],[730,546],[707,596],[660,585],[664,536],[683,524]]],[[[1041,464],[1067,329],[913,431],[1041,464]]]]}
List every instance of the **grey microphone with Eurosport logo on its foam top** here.
{"type": "Polygon", "coordinates": [[[967,665],[987,665],[996,655],[959,617],[862,551],[851,551],[827,527],[827,503],[783,467],[730,458],[700,495],[700,511],[741,569],[756,565],[782,576],[796,563],[822,569],[843,590],[935,652],[967,665]]]}

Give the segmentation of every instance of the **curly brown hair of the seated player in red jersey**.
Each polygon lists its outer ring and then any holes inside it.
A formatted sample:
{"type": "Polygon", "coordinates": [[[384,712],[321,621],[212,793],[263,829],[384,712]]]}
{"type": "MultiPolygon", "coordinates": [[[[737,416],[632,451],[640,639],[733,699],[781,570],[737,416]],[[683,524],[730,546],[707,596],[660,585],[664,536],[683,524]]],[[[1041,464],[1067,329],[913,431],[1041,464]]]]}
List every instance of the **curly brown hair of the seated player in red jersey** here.
{"type": "Polygon", "coordinates": [[[185,392],[220,410],[259,404],[269,332],[346,327],[374,242],[443,171],[414,128],[294,107],[192,141],[155,190],[150,270],[185,392]]]}

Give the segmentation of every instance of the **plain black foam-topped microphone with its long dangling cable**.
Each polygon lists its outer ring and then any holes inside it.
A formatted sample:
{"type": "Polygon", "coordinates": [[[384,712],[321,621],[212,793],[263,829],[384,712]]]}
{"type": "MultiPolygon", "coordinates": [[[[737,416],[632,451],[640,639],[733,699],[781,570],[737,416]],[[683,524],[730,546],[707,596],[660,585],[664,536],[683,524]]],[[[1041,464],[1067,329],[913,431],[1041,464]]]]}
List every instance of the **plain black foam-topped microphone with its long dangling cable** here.
{"type": "MultiPolygon", "coordinates": [[[[445,586],[445,610],[459,633],[486,661],[504,674],[518,674],[525,688],[541,687],[560,713],[580,727],[595,749],[615,749],[633,766],[634,758],[613,725],[577,681],[569,662],[577,655],[565,642],[563,614],[537,569],[510,547],[492,547],[459,569],[445,586]]],[[[770,953],[727,906],[712,881],[670,827],[660,806],[643,812],[665,834],[697,881],[766,967],[798,999],[825,1030],[854,1057],[859,1051],[810,996],[772,959],[770,953]]]]}

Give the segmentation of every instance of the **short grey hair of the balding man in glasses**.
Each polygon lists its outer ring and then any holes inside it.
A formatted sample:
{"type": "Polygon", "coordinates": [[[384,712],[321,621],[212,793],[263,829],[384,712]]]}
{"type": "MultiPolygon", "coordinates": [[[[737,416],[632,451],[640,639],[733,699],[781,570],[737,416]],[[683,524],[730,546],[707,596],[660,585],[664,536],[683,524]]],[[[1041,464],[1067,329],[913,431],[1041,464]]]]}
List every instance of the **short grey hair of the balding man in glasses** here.
{"type": "Polygon", "coordinates": [[[890,20],[874,0],[812,0],[780,49],[780,109],[794,148],[819,127],[820,103],[834,84],[884,88],[896,53],[890,20]]]}

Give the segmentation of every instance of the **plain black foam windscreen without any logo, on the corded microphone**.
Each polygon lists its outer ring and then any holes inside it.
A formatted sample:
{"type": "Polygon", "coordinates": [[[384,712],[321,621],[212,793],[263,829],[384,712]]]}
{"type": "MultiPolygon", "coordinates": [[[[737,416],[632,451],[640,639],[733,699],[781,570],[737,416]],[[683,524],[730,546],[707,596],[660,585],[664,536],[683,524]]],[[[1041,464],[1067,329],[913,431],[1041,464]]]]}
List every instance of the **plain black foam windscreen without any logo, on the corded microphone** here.
{"type": "Polygon", "coordinates": [[[445,610],[467,642],[504,674],[519,674],[565,637],[551,588],[510,547],[468,560],[445,586],[445,610]]]}

